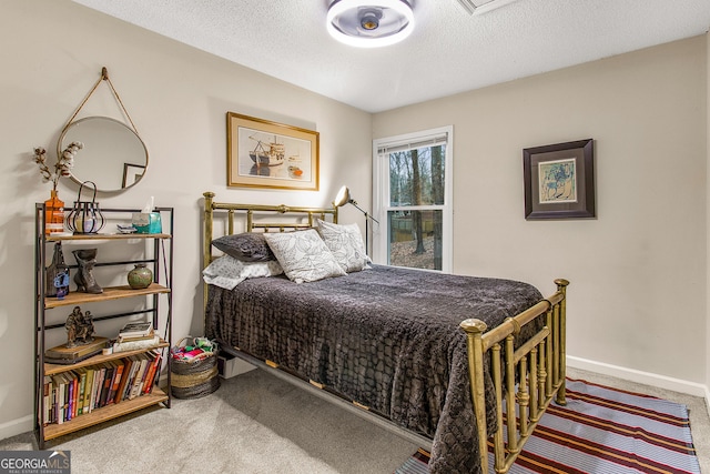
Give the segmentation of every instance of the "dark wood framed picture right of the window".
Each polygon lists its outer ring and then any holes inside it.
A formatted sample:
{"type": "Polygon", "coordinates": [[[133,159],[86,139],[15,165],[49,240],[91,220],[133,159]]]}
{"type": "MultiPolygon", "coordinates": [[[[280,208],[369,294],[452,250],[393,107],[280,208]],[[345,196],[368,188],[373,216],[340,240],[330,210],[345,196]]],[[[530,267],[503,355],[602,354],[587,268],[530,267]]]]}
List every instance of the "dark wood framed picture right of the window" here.
{"type": "Polygon", "coordinates": [[[523,150],[525,219],[596,216],[594,140],[523,150]]]}

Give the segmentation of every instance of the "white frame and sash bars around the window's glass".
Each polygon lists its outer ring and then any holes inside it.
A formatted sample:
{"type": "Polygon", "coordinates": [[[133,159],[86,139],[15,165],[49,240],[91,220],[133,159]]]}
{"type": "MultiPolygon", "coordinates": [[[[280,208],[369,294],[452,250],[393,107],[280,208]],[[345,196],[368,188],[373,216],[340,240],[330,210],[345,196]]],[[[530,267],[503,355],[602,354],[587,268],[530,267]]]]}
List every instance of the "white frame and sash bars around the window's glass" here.
{"type": "Polygon", "coordinates": [[[454,255],[454,125],[423,130],[396,137],[373,140],[373,216],[379,225],[373,225],[373,262],[387,263],[387,212],[393,210],[440,210],[442,211],[442,272],[452,273],[454,255]],[[444,140],[442,140],[444,137],[444,140]],[[444,154],[444,204],[390,206],[389,203],[389,159],[381,149],[420,148],[426,144],[445,143],[444,154]]]}

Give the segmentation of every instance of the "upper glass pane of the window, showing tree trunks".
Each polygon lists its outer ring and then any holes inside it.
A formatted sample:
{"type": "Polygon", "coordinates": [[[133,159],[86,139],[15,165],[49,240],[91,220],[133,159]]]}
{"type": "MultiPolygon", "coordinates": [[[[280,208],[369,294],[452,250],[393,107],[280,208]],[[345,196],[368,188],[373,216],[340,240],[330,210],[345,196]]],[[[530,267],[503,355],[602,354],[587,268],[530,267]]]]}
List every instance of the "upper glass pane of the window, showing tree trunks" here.
{"type": "Polygon", "coordinates": [[[446,145],[389,153],[389,205],[444,205],[446,145]]]}

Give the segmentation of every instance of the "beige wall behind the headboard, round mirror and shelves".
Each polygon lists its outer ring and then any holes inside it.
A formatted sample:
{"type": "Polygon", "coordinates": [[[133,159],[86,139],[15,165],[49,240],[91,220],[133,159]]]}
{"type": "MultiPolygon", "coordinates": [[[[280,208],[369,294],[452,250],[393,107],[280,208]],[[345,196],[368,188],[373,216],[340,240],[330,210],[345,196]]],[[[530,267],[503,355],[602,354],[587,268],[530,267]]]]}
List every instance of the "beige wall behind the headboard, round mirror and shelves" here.
{"type": "MultiPolygon", "coordinates": [[[[347,183],[371,194],[372,117],[321,95],[105,17],[68,0],[0,0],[0,438],[31,427],[34,203],[49,196],[30,160],[54,159],[63,124],[105,65],[146,142],[140,185],[100,195],[101,205],[175,208],[174,334],[201,333],[200,199],[204,191],[242,202],[326,205],[347,183]],[[321,191],[226,189],[227,111],[321,133],[321,191]],[[19,430],[19,431],[18,431],[19,430]]],[[[101,85],[100,107],[109,89],[101,85]]],[[[110,95],[108,95],[110,97],[110,95]]],[[[89,105],[97,107],[94,99],[89,105]]],[[[108,108],[118,115],[118,108],[108,108]]],[[[77,158],[81,159],[81,155],[77,158]]],[[[68,204],[77,186],[60,184],[68,204]]],[[[344,221],[358,213],[344,209],[344,221]]],[[[69,255],[71,256],[71,255],[69,255]]],[[[99,312],[94,312],[99,314],[99,312]]],[[[61,319],[61,317],[60,317],[61,319]]],[[[101,331],[111,331],[98,327],[101,331]]],[[[55,330],[60,332],[61,330],[55,330]]]]}

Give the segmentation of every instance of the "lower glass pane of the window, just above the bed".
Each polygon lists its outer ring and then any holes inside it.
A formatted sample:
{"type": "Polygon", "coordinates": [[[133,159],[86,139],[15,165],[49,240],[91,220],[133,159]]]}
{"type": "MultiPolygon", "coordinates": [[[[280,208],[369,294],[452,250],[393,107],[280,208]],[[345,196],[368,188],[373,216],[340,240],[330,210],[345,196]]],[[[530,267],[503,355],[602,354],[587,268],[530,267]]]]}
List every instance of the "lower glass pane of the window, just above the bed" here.
{"type": "Polygon", "coordinates": [[[440,210],[388,211],[388,264],[442,270],[440,210]]]}

